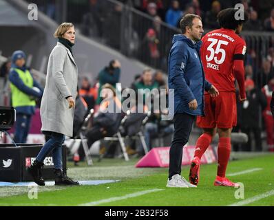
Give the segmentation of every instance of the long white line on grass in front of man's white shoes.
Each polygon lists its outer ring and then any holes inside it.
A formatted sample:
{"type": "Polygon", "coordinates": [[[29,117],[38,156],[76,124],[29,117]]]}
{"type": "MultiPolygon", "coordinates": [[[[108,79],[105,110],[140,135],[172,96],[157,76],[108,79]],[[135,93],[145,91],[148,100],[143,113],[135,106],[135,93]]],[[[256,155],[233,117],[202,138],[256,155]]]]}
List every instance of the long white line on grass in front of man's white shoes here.
{"type": "Polygon", "coordinates": [[[101,199],[101,200],[98,200],[98,201],[83,203],[83,204],[80,204],[78,206],[98,206],[102,203],[109,203],[109,202],[112,202],[112,201],[118,201],[118,200],[133,198],[133,197],[139,197],[140,195],[145,195],[145,194],[150,193],[150,192],[157,192],[157,191],[161,191],[161,190],[163,190],[163,189],[154,188],[152,190],[145,190],[145,191],[140,191],[140,192],[134,192],[134,193],[131,193],[131,194],[127,194],[127,195],[124,195],[123,197],[112,197],[112,198],[109,198],[109,199],[101,199]]]}

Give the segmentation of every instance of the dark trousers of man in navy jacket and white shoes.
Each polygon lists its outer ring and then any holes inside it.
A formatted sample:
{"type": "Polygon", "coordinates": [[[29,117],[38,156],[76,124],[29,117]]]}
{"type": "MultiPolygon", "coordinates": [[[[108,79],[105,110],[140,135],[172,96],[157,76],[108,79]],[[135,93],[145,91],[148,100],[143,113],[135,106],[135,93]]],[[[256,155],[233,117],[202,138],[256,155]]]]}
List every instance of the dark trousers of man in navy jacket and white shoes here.
{"type": "Polygon", "coordinates": [[[176,113],[173,118],[174,136],[169,150],[169,179],[181,174],[182,147],[189,141],[194,115],[176,113]]]}

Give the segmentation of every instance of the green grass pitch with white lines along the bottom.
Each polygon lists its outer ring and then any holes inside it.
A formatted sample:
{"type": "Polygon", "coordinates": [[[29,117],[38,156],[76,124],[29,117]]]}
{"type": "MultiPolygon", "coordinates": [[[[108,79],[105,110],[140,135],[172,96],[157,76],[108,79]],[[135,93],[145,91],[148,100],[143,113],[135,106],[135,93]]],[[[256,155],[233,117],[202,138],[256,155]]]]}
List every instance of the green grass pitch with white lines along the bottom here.
{"type": "MultiPolygon", "coordinates": [[[[166,188],[167,168],[135,168],[136,162],[103,159],[94,166],[82,163],[77,168],[69,164],[68,176],[74,179],[120,181],[97,186],[39,187],[37,199],[28,198],[28,187],[0,187],[0,206],[229,206],[240,205],[240,201],[248,201],[244,206],[274,206],[274,154],[229,162],[226,174],[258,168],[229,177],[244,184],[244,199],[235,198],[237,188],[213,186],[217,164],[201,166],[198,188],[166,188]],[[266,196],[253,199],[262,195],[266,196]]],[[[182,167],[182,175],[188,179],[189,166],[182,167]]]]}

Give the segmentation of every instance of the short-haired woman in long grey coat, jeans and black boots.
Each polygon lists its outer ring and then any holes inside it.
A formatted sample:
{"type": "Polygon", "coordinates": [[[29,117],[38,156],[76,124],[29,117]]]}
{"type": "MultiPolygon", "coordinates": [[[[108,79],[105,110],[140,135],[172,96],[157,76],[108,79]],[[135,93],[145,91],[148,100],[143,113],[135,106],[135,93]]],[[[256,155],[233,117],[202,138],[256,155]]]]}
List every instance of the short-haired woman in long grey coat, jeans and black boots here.
{"type": "Polygon", "coordinates": [[[57,45],[50,54],[45,90],[41,101],[41,131],[50,136],[28,168],[36,184],[45,186],[41,174],[43,160],[52,151],[55,185],[78,185],[62,170],[62,144],[72,137],[78,70],[72,55],[75,30],[72,23],[62,23],[54,33],[57,45]]]}

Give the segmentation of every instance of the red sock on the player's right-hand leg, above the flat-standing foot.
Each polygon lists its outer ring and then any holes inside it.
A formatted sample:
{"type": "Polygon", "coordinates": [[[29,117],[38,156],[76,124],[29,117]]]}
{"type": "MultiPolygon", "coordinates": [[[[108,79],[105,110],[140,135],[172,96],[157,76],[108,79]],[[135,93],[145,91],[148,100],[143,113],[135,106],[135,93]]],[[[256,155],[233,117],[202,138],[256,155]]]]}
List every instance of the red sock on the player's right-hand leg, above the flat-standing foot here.
{"type": "Polygon", "coordinates": [[[218,171],[217,175],[219,177],[225,177],[226,166],[229,162],[229,156],[231,152],[231,138],[230,137],[220,137],[218,144],[218,171]]]}

